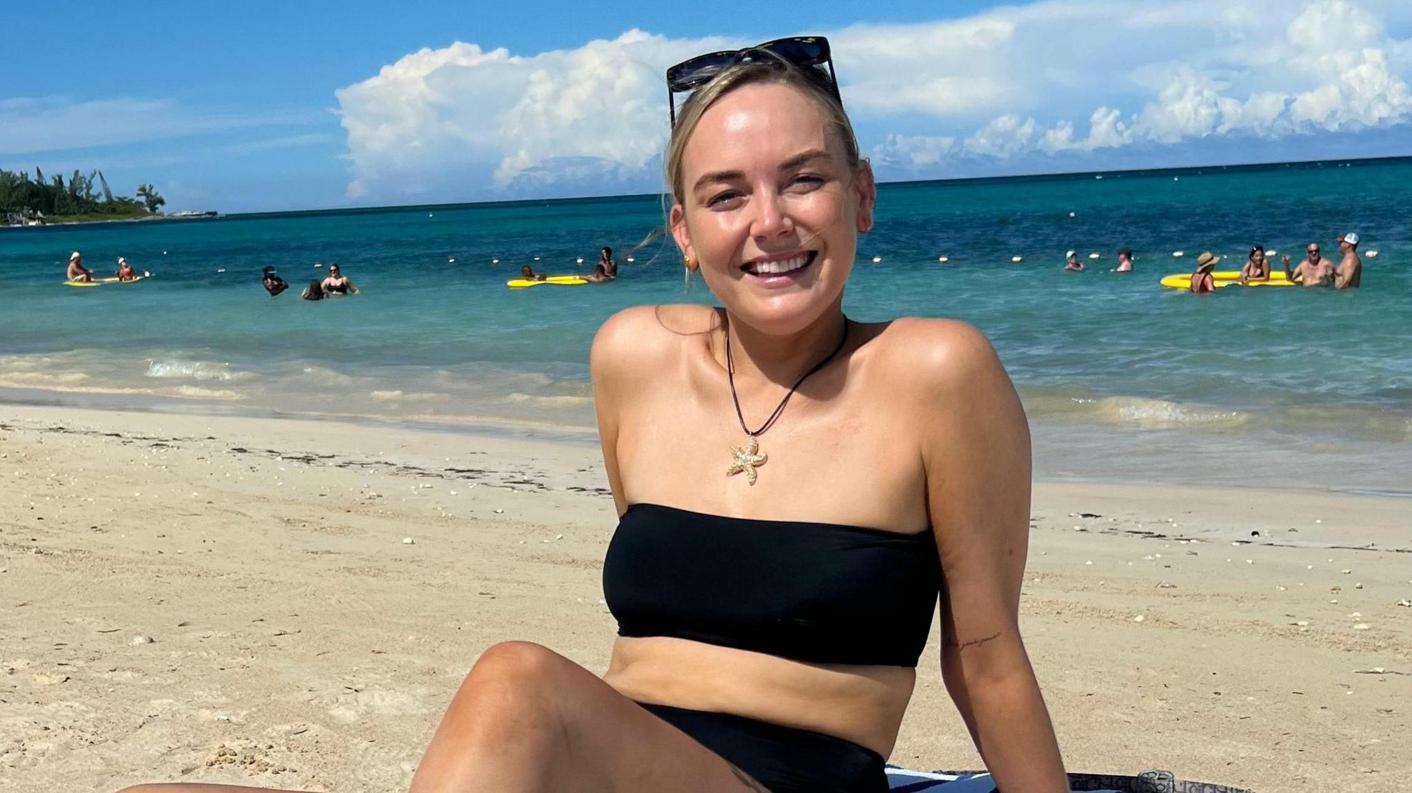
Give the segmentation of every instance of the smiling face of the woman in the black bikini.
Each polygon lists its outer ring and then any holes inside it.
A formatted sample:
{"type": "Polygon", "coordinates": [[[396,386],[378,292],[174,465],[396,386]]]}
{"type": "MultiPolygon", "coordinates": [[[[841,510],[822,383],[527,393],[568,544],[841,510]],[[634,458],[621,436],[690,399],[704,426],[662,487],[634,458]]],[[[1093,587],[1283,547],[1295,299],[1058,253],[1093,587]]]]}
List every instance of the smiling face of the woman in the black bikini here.
{"type": "Polygon", "coordinates": [[[737,319],[796,333],[839,305],[875,189],[819,104],[748,85],[702,114],[682,154],[672,236],[737,319]]]}

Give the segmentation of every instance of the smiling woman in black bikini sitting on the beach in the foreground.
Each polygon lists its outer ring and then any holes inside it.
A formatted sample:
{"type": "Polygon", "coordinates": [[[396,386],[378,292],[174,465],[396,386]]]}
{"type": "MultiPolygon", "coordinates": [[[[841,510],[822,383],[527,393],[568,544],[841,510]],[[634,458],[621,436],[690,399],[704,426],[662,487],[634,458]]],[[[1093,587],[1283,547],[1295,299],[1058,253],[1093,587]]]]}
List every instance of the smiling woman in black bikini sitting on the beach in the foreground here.
{"type": "Polygon", "coordinates": [[[693,90],[671,233],[720,306],[627,309],[593,344],[621,515],[609,670],[491,646],[414,793],[885,792],[939,593],[928,666],[997,785],[1069,790],[1018,625],[1025,415],[976,329],[843,315],[875,189],[827,42],[695,58],[668,85],[693,90]]]}

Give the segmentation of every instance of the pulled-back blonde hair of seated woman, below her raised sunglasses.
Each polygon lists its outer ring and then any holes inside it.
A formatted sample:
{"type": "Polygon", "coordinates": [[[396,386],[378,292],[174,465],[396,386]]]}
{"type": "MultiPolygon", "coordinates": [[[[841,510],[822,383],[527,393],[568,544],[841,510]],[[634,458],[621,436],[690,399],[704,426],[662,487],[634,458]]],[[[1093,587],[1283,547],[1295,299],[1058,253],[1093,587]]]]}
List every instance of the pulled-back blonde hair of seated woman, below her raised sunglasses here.
{"type": "Polygon", "coordinates": [[[696,124],[700,123],[706,110],[723,96],[741,86],[770,83],[791,86],[818,102],[819,107],[829,117],[829,123],[839,134],[839,141],[843,143],[843,154],[849,161],[849,169],[857,171],[863,158],[858,155],[858,137],[853,133],[853,123],[849,121],[849,114],[843,110],[843,103],[833,96],[833,92],[819,78],[784,59],[736,63],[734,66],[727,66],[712,78],[709,83],[696,89],[676,114],[676,126],[672,127],[672,137],[666,144],[665,158],[666,183],[676,203],[682,203],[685,192],[682,155],[686,151],[686,141],[696,131],[696,124]]]}

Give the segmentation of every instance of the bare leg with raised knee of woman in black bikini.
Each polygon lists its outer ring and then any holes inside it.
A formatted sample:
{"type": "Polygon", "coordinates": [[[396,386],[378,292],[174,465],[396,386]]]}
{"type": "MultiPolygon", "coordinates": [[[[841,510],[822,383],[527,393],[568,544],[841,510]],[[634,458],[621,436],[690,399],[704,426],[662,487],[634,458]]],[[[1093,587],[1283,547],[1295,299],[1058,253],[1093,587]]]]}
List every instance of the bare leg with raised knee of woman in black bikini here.
{"type": "MultiPolygon", "coordinates": [[[[140,785],[120,793],[291,793],[140,785]]],[[[768,793],[592,672],[527,642],[486,650],[446,708],[411,793],[768,793]]]]}

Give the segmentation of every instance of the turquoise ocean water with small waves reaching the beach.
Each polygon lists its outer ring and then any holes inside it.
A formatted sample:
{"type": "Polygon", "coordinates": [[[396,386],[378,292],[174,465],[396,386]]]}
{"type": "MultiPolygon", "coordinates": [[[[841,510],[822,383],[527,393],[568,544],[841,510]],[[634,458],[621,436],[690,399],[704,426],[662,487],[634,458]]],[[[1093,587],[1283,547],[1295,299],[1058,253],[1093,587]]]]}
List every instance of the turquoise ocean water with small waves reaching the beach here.
{"type": "MultiPolygon", "coordinates": [[[[1409,183],[1412,159],[884,185],[846,310],[984,330],[1042,476],[1412,491],[1409,183]],[[1254,243],[1336,255],[1346,230],[1358,291],[1158,286],[1203,250],[1236,270],[1254,243]],[[1108,272],[1123,246],[1135,274],[1108,272]],[[1067,248],[1089,272],[1062,271],[1067,248]]],[[[635,196],[0,230],[0,399],[573,435],[599,323],[712,301],[661,226],[635,196]],[[603,244],[614,284],[504,286],[521,264],[586,272],[603,244]],[[155,275],[68,288],[71,250],[155,275]],[[299,301],[333,261],[366,293],[299,301]],[[268,298],[264,265],[291,291],[268,298]]]]}

